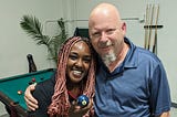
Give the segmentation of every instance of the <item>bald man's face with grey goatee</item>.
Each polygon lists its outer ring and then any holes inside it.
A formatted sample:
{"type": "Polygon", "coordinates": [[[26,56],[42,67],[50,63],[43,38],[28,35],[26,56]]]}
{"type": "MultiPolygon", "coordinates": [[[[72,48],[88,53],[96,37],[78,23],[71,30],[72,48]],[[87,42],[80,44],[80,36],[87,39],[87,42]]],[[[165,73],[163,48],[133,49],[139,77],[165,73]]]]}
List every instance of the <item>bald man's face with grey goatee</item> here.
{"type": "Polygon", "coordinates": [[[123,47],[125,31],[126,24],[112,14],[90,19],[92,45],[105,63],[116,60],[123,47]]]}

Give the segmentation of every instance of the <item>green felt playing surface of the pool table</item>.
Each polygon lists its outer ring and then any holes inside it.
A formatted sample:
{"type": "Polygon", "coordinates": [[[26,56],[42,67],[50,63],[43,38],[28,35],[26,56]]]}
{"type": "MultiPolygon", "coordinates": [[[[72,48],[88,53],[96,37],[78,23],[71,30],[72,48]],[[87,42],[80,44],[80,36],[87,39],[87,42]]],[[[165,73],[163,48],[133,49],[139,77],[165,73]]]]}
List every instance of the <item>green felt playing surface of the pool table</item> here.
{"type": "Polygon", "coordinates": [[[0,92],[2,92],[13,102],[19,102],[19,105],[27,109],[27,105],[24,103],[24,91],[29,86],[29,83],[32,82],[32,78],[35,78],[37,83],[48,79],[51,77],[53,72],[53,68],[49,68],[0,79],[0,92]],[[19,95],[18,91],[22,91],[22,94],[19,95]]]}

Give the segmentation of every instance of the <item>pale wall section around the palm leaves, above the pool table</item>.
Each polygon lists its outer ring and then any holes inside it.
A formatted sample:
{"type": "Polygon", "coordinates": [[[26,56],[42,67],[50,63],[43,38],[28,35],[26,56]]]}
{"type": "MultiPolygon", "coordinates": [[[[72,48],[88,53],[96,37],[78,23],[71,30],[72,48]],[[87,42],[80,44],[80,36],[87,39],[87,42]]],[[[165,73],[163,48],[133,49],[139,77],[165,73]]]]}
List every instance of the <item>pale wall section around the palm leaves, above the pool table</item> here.
{"type": "MultiPolygon", "coordinates": [[[[22,15],[35,15],[43,26],[63,17],[62,0],[0,0],[0,78],[28,72],[27,54],[33,54],[38,70],[52,67],[45,46],[21,29],[22,15]]],[[[45,28],[43,28],[44,30],[45,28]]],[[[45,32],[45,31],[43,31],[45,32]]]]}

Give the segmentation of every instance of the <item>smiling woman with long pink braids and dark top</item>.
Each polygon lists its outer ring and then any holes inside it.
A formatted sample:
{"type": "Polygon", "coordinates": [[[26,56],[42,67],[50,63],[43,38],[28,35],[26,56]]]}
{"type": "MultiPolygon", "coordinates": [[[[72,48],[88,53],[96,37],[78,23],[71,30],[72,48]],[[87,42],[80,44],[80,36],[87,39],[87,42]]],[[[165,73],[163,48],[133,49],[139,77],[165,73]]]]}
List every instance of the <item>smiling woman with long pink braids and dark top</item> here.
{"type": "MultiPolygon", "coordinates": [[[[31,111],[35,117],[74,116],[72,103],[84,94],[94,96],[95,64],[92,46],[87,39],[74,36],[65,41],[59,52],[55,77],[39,83],[33,96],[39,108],[31,111]]],[[[88,110],[84,116],[92,116],[88,110]]],[[[79,115],[75,115],[79,116],[79,115]]]]}

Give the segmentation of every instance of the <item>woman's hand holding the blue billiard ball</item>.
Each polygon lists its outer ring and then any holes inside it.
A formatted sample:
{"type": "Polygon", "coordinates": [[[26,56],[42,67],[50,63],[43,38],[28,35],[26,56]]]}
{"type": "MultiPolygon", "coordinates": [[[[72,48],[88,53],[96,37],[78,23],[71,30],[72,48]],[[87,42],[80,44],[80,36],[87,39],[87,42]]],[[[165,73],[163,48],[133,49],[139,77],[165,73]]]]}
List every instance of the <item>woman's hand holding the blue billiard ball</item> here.
{"type": "Polygon", "coordinates": [[[93,107],[93,99],[90,99],[90,103],[85,107],[81,107],[76,104],[76,102],[73,102],[70,108],[70,117],[82,117],[85,115],[91,108],[93,107]]]}

